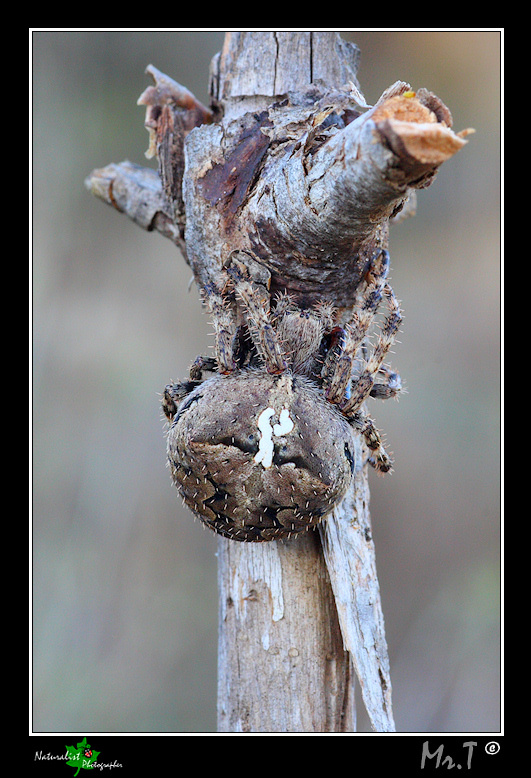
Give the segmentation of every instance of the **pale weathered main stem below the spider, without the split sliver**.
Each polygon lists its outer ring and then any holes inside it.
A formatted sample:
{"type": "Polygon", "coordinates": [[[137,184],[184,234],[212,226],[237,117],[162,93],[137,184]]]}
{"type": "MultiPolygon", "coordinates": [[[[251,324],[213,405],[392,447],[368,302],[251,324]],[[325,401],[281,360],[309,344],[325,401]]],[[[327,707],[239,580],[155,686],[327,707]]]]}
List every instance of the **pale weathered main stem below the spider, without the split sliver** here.
{"type": "Polygon", "coordinates": [[[220,732],[353,732],[354,677],[319,535],[220,538],[220,732]]]}

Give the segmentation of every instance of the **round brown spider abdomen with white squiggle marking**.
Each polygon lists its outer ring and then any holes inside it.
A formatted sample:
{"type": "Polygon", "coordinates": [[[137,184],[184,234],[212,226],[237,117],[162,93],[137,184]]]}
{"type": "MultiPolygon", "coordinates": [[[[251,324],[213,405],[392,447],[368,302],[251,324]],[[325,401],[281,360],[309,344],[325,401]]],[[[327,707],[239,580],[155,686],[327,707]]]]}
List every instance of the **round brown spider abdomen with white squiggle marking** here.
{"type": "Polygon", "coordinates": [[[186,504],[233,540],[286,538],[342,499],[355,466],[353,431],[300,375],[216,374],[178,406],[168,463],[186,504]]]}

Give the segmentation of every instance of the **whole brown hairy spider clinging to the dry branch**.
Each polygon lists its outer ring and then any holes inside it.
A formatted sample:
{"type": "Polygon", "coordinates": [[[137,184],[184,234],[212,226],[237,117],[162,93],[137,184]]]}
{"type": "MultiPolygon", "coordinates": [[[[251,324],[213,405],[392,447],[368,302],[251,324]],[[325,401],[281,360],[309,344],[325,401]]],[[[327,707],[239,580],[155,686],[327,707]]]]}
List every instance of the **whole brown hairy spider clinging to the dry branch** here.
{"type": "Polygon", "coordinates": [[[401,388],[384,365],[402,320],[388,268],[387,251],[377,250],[344,326],[327,302],[303,309],[286,293],[271,300],[269,271],[247,252],[231,254],[221,288],[204,289],[215,358],[197,357],[188,380],[166,386],[162,407],[173,482],[217,533],[258,542],[316,526],[360,465],[355,430],[370,464],[391,469],[362,408],[369,395],[385,399],[401,388]],[[387,314],[368,355],[383,300],[387,314]]]}

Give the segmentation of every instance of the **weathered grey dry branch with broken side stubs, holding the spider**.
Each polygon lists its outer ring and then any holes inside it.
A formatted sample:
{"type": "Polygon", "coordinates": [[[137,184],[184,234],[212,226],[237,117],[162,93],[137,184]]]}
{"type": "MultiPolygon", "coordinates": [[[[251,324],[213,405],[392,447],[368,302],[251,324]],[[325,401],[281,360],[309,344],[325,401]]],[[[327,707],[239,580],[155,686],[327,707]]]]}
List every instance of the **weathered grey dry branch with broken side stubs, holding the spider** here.
{"type": "MultiPolygon", "coordinates": [[[[450,112],[397,82],[365,104],[358,50],[333,32],[230,32],[211,108],[148,68],[149,154],[87,186],[170,238],[203,288],[236,249],[302,307],[352,307],[369,257],[416,189],[458,151],[450,112]]],[[[395,729],[362,440],[352,487],[320,533],[218,545],[218,728],[352,732],[354,670],[373,728],[395,729]]]]}

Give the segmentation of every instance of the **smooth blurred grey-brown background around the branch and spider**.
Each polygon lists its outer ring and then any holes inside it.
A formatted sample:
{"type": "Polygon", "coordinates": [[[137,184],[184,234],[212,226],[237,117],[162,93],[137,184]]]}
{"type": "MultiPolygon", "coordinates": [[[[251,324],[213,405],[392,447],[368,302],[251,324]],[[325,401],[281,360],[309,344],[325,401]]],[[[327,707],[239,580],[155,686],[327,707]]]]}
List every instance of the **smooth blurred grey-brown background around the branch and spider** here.
{"type": "MultiPolygon", "coordinates": [[[[397,729],[500,728],[500,33],[343,30],[468,145],[391,233],[396,464],[371,513],[397,729]]],[[[177,250],[84,187],[144,158],[153,64],[208,102],[223,30],[42,30],[33,64],[33,729],[215,732],[216,539],[165,467],[158,392],[212,343],[177,250]]],[[[369,729],[360,710],[360,729],[369,729]]]]}

